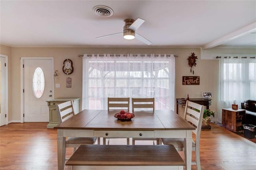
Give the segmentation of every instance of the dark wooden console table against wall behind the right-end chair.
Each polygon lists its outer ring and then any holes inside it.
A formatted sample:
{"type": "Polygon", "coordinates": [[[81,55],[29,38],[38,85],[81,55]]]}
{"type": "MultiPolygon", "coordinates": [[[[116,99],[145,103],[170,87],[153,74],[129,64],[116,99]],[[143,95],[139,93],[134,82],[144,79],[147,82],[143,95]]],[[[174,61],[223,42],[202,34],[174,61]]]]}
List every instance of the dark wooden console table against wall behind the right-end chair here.
{"type": "MultiPolygon", "coordinates": [[[[176,99],[176,113],[177,114],[179,113],[178,112],[179,105],[185,106],[186,101],[187,100],[184,98],[176,99]]],[[[198,103],[199,105],[204,105],[204,106],[206,106],[206,109],[209,109],[209,106],[212,104],[212,99],[194,98],[194,99],[189,99],[189,101],[198,103]]]]}

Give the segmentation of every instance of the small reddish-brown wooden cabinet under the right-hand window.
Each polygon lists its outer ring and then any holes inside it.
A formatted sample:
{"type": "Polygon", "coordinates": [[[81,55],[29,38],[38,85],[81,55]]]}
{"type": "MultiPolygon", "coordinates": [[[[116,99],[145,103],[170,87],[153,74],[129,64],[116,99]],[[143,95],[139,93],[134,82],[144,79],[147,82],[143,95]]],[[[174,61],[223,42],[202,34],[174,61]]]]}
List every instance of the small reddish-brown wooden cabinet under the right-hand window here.
{"type": "Polygon", "coordinates": [[[232,132],[242,130],[242,117],[244,115],[244,109],[222,109],[222,127],[232,132]]]}

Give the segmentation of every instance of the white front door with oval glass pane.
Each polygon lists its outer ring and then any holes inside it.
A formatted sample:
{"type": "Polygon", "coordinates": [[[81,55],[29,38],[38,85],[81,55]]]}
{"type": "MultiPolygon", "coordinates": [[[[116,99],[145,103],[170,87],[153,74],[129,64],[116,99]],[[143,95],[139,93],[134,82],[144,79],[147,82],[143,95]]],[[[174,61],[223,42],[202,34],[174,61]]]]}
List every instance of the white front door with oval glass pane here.
{"type": "Polygon", "coordinates": [[[24,59],[24,122],[49,122],[53,59],[24,59]]]}

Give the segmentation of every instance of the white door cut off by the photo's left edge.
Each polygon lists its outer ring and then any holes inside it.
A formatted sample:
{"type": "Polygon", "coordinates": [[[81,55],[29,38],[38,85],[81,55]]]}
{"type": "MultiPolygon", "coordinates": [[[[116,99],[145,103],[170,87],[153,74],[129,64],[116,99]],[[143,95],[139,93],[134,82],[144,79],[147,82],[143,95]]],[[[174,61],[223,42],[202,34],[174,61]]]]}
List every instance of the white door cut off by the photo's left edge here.
{"type": "Polygon", "coordinates": [[[5,58],[0,57],[0,126],[6,124],[5,58]]]}

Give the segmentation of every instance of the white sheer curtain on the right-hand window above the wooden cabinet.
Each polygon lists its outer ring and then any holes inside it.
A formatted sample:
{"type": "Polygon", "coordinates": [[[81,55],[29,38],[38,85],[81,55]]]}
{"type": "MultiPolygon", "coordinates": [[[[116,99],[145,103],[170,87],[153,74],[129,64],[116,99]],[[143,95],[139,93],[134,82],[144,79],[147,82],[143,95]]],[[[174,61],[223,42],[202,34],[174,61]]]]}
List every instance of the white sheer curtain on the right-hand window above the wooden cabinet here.
{"type": "Polygon", "coordinates": [[[222,109],[231,107],[234,100],[241,108],[246,99],[256,99],[256,59],[219,59],[218,121],[222,120],[222,109]]]}

